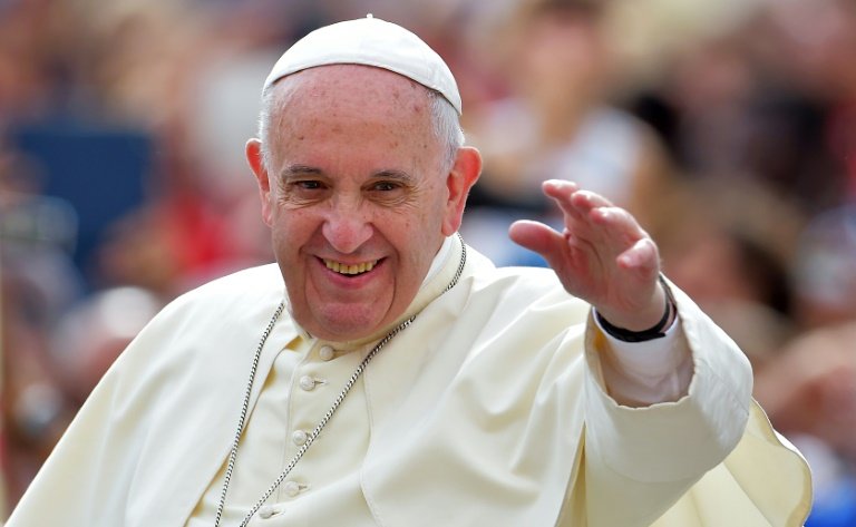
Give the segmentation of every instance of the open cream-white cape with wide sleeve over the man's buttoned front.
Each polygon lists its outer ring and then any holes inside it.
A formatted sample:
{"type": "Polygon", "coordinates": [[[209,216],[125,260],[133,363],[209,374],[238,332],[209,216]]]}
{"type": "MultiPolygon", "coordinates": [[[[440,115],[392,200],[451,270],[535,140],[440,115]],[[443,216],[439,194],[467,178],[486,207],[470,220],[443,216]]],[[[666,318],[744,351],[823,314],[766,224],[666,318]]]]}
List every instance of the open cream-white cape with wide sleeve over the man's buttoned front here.
{"type": "MultiPolygon", "coordinates": [[[[448,283],[459,251],[427,289],[448,283]]],[[[746,358],[685,295],[674,291],[689,394],[628,408],[604,391],[587,304],[549,270],[495,269],[468,252],[460,282],[420,292],[416,322],[363,374],[362,513],[335,504],[339,516],[310,525],[802,524],[805,461],[751,401],[746,358]]],[[[96,388],[7,527],[185,525],[227,456],[252,353],[283,295],[268,265],[167,306],[96,388]]],[[[286,313],[274,326],[251,411],[300,331],[286,313]]]]}

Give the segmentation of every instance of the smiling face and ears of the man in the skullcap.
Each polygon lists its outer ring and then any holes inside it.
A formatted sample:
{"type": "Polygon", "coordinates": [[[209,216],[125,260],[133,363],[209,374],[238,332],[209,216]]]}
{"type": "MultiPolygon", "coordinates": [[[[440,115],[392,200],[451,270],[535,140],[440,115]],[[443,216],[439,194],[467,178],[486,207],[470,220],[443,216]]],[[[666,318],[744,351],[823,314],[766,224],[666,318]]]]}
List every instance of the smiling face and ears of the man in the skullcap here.
{"type": "Polygon", "coordinates": [[[457,231],[478,154],[447,170],[426,89],[397,74],[323,66],[275,89],[270,166],[257,140],[247,158],[292,314],[321,339],[370,335],[403,314],[457,231]]]}

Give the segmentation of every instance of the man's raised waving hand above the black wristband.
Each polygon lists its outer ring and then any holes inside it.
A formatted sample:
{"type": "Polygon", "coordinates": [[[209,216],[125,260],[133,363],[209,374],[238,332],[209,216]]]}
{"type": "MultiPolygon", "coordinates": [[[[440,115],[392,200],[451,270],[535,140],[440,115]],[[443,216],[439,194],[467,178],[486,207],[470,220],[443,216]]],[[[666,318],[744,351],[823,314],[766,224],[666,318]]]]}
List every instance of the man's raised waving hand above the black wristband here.
{"type": "Polygon", "coordinates": [[[641,331],[656,324],[667,300],[651,236],[630,213],[574,183],[552,179],[543,191],[562,209],[564,231],[524,219],[512,225],[512,240],[544,256],[565,290],[613,325],[641,331]]]}

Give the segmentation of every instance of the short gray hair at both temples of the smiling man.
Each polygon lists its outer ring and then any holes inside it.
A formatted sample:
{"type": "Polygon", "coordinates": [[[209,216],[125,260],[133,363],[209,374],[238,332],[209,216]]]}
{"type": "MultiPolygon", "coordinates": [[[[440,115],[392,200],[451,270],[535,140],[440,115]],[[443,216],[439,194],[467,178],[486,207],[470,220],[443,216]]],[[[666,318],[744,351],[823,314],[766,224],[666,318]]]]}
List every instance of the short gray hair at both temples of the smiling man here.
{"type": "MultiPolygon", "coordinates": [[[[273,159],[271,149],[268,148],[271,136],[271,120],[274,115],[282,115],[285,101],[276,97],[276,85],[273,85],[262,94],[262,109],[259,114],[259,138],[262,140],[262,159],[265,168],[271,169],[273,159]]],[[[446,97],[437,90],[425,88],[428,95],[428,105],[434,124],[434,133],[440,144],[444,145],[445,158],[442,172],[448,172],[458,157],[458,148],[464,146],[464,130],[460,128],[460,118],[455,107],[446,97]]]]}

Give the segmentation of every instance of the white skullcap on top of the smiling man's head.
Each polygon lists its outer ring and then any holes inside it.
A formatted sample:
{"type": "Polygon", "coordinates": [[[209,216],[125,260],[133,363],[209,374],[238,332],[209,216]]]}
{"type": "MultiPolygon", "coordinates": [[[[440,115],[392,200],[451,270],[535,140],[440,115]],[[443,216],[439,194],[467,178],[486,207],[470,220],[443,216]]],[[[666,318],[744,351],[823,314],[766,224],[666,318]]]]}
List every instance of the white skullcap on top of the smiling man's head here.
{"type": "Polygon", "coordinates": [[[371,14],[325,26],[298,40],[273,66],[264,90],[288,75],[334,64],[374,66],[403,75],[439,91],[461,113],[458,85],[440,56],[401,26],[371,14]]]}

